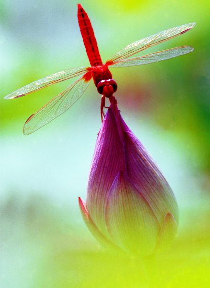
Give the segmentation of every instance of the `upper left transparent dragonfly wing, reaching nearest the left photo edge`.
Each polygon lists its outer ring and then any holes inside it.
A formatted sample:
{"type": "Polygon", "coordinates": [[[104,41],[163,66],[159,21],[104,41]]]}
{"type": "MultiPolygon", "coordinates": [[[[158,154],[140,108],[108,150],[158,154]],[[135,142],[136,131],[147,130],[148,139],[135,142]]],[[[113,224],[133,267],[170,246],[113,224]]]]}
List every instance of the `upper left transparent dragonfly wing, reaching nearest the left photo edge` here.
{"type": "Polygon", "coordinates": [[[88,70],[89,70],[88,67],[79,67],[79,68],[73,68],[73,69],[66,69],[66,70],[54,73],[40,80],[27,84],[26,86],[23,86],[22,88],[17,89],[16,91],[7,95],[5,99],[14,99],[14,98],[27,95],[29,93],[40,90],[52,84],[85,74],[88,70]]]}

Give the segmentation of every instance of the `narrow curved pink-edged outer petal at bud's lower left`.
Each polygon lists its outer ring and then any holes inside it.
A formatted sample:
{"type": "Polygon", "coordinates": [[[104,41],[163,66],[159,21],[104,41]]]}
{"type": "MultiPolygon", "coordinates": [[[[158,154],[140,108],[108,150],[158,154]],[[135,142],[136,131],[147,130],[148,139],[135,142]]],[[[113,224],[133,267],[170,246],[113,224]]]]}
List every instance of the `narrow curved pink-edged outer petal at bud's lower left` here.
{"type": "Polygon", "coordinates": [[[115,250],[119,249],[115,244],[111,243],[109,240],[107,240],[106,237],[104,237],[100,233],[100,231],[95,226],[95,223],[91,219],[91,217],[90,217],[90,215],[86,209],[85,202],[80,197],[79,197],[79,206],[80,206],[80,212],[82,214],[82,218],[83,218],[87,228],[90,230],[92,235],[95,237],[95,239],[104,247],[114,248],[115,250]]]}

